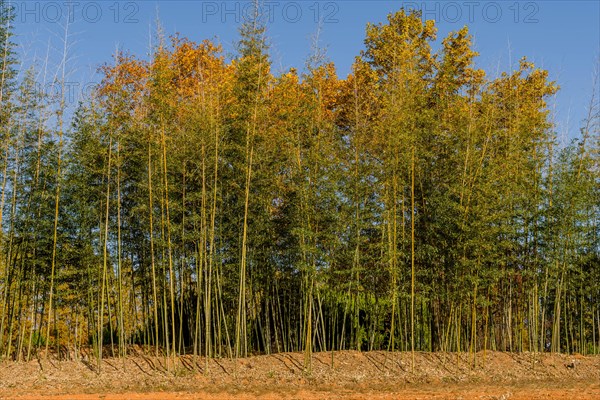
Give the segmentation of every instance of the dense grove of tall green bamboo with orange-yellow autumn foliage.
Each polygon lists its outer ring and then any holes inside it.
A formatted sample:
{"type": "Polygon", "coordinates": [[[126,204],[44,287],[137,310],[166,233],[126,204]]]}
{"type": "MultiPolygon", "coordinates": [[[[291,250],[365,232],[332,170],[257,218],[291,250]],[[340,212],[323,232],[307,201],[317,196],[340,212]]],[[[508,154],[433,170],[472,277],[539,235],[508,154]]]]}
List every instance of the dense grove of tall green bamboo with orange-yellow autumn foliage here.
{"type": "Polygon", "coordinates": [[[2,357],[600,350],[597,98],[561,146],[546,71],[401,10],[345,79],[159,34],[67,118],[1,6],[2,357]]]}

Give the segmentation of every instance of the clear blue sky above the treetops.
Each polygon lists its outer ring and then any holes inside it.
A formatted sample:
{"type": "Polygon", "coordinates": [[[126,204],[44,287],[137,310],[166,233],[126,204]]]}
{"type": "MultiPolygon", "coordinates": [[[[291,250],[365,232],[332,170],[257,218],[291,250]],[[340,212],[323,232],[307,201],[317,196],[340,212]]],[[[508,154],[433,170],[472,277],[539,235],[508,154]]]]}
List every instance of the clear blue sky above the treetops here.
{"type": "MultiPolygon", "coordinates": [[[[110,63],[117,48],[145,57],[157,17],[166,34],[178,32],[196,41],[215,39],[231,54],[249,5],[248,1],[204,0],[11,1],[16,9],[16,42],[25,64],[48,58],[48,71],[52,71],[62,52],[65,22],[71,21],[67,70],[73,93],[97,80],[97,67],[110,63]]],[[[311,38],[320,31],[320,44],[328,49],[340,77],[345,77],[363,48],[366,24],[385,22],[388,13],[402,6],[422,9],[424,18],[435,19],[440,39],[468,25],[480,53],[477,64],[492,77],[515,68],[522,56],[548,69],[561,87],[552,105],[557,130],[571,137],[578,131],[600,57],[598,0],[264,0],[273,70],[302,69],[311,38]]]]}

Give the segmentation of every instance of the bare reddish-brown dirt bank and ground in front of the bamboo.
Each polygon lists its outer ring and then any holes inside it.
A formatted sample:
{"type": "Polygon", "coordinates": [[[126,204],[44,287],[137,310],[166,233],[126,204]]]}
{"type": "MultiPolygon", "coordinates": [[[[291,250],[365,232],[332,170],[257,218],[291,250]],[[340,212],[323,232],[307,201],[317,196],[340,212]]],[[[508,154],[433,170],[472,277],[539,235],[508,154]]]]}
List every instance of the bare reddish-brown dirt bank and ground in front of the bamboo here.
{"type": "Polygon", "coordinates": [[[600,356],[479,352],[281,353],[0,363],[0,399],[600,399],[600,356]],[[168,362],[167,362],[168,361],[168,362]],[[333,364],[332,364],[333,362],[333,364]],[[208,367],[208,368],[207,368],[208,367]]]}

